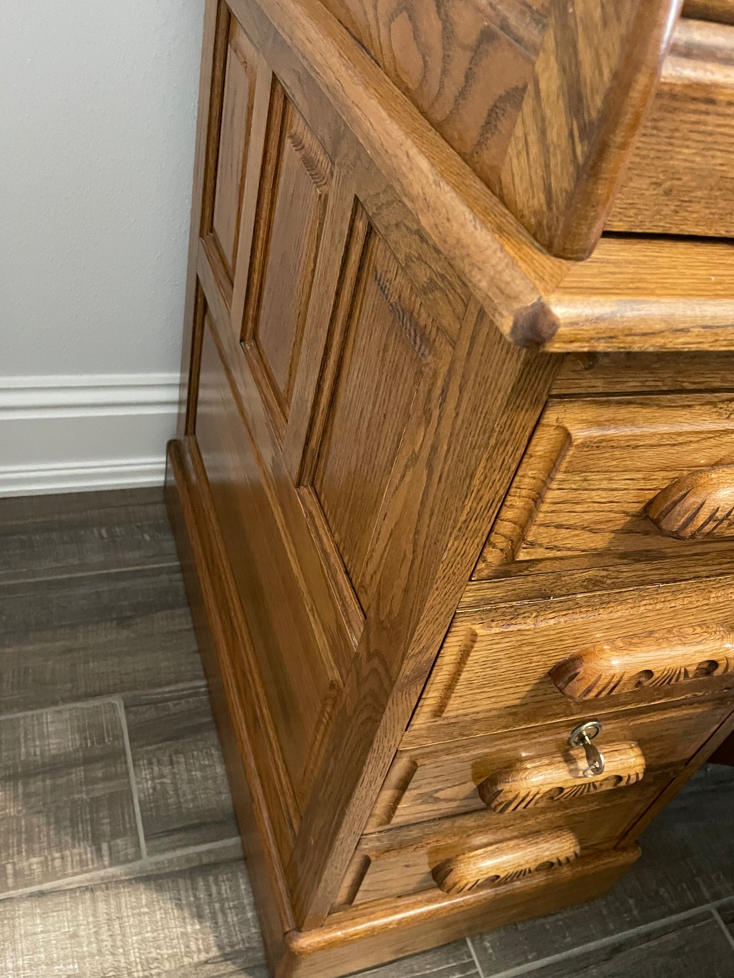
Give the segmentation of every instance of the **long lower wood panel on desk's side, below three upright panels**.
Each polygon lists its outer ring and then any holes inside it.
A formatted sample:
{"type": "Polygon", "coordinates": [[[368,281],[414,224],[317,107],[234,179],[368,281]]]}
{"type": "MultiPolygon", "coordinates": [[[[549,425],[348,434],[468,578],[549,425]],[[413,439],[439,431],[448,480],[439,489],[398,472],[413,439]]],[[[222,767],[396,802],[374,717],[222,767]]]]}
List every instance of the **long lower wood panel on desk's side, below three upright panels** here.
{"type": "Polygon", "coordinates": [[[202,353],[196,437],[268,707],[298,804],[303,805],[342,684],[319,641],[268,475],[210,324],[202,353]]]}

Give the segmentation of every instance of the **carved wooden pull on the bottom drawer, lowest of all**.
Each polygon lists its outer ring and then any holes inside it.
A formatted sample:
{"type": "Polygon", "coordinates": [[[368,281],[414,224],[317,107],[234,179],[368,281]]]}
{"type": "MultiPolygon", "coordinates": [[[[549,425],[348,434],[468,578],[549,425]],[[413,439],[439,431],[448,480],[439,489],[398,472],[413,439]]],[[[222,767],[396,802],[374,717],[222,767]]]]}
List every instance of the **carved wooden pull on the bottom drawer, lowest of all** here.
{"type": "Polygon", "coordinates": [[[434,868],[433,876],[444,893],[464,893],[565,866],[573,863],[579,852],[578,839],[571,829],[559,828],[451,856],[434,868]]]}

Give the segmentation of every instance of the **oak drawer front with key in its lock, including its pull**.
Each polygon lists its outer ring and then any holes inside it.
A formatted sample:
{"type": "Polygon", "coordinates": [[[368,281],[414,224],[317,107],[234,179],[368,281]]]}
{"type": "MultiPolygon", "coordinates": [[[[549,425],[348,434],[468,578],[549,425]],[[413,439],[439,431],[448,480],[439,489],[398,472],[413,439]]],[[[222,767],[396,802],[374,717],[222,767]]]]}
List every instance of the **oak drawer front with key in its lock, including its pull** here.
{"type": "Polygon", "coordinates": [[[367,829],[485,811],[481,786],[500,773],[508,776],[506,783],[516,781],[518,790],[505,790],[503,797],[497,799],[503,804],[496,807],[507,810],[489,813],[492,823],[531,822],[539,812],[568,818],[574,807],[582,801],[585,804],[586,795],[599,797],[601,805],[619,802],[638,811],[647,803],[650,785],[661,777],[664,781],[673,777],[672,773],[693,757],[733,706],[728,697],[612,713],[593,712],[591,706],[581,722],[594,719],[602,724],[601,733],[592,741],[606,758],[607,768],[601,778],[578,777],[579,750],[569,745],[576,720],[400,750],[367,829]],[[630,743],[638,745],[644,758],[644,774],[639,780],[635,779],[639,768],[627,747],[630,743]],[[618,745],[624,749],[616,754],[618,745]],[[548,778],[539,777],[538,759],[547,765],[548,778]],[[550,765],[553,759],[558,759],[573,777],[573,786],[571,779],[563,781],[568,785],[563,792],[562,781],[553,780],[554,776],[557,778],[550,765]],[[534,770],[527,767],[531,762],[535,762],[534,770]],[[523,777],[524,770],[528,771],[527,778],[523,777]]]}

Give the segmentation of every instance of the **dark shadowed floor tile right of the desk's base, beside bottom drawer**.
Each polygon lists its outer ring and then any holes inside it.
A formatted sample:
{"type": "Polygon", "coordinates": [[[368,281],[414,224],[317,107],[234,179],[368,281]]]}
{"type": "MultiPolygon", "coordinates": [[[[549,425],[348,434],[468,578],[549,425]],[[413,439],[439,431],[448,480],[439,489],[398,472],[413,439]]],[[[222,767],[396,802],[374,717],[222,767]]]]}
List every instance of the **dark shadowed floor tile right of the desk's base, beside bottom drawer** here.
{"type": "Polygon", "coordinates": [[[642,856],[600,900],[472,938],[498,974],[734,895],[734,769],[702,769],[640,838],[642,856]]]}

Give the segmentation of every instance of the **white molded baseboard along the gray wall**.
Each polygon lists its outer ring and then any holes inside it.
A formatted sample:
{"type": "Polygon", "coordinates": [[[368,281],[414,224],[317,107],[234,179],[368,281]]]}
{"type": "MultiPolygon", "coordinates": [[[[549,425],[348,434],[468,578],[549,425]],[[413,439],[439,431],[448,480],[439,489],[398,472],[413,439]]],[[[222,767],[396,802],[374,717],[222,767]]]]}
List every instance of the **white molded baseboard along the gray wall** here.
{"type": "Polygon", "coordinates": [[[177,374],[0,378],[0,496],[161,485],[177,374]]]}

